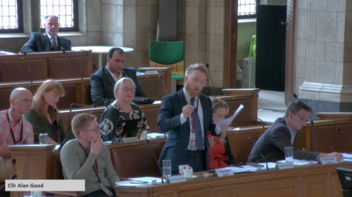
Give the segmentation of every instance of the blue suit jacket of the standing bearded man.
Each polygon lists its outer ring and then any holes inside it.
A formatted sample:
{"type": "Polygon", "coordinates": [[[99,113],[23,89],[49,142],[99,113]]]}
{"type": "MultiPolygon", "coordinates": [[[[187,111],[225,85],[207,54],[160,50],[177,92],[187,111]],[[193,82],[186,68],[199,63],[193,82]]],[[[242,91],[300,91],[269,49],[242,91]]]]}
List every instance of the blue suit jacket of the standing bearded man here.
{"type": "MultiPolygon", "coordinates": [[[[206,95],[199,95],[201,107],[203,109],[203,125],[204,125],[204,147],[206,151],[206,168],[209,168],[208,154],[208,130],[212,134],[215,133],[215,124],[213,123],[213,110],[211,100],[206,95]]],[[[161,110],[158,115],[158,130],[162,133],[168,132],[168,140],[166,140],[163,151],[159,157],[158,165],[163,165],[163,160],[171,160],[172,172],[178,172],[178,166],[187,164],[184,160],[187,156],[187,148],[189,144],[189,118],[187,122],[181,124],[180,118],[182,108],[187,105],[183,90],[177,93],[163,97],[161,110]]]]}

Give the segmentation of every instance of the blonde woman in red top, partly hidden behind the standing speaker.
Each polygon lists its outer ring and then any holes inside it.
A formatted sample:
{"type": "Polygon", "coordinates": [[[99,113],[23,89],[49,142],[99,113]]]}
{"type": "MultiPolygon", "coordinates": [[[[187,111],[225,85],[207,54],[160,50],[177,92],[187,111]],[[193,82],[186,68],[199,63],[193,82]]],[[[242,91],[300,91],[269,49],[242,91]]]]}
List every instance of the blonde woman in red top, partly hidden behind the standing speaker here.
{"type": "MultiPolygon", "coordinates": [[[[229,107],[226,102],[217,97],[211,98],[211,105],[213,108],[213,121],[218,122],[225,120],[225,116],[229,113],[229,107]]],[[[222,125],[220,127],[220,136],[208,136],[209,139],[209,168],[218,169],[234,165],[234,156],[230,148],[229,138],[227,137],[227,130],[229,125],[222,125]]]]}

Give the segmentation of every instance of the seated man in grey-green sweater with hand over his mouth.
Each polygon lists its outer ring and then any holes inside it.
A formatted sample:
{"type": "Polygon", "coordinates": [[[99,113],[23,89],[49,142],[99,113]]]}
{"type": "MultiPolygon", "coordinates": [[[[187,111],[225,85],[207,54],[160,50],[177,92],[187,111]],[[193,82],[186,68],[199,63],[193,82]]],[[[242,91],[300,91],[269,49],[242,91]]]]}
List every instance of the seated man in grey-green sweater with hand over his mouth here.
{"type": "Polygon", "coordinates": [[[82,197],[115,196],[113,187],[120,178],[113,169],[108,147],[101,140],[101,130],[92,114],[77,114],[72,120],[75,140],[61,150],[60,160],[65,179],[84,179],[82,197]]]}

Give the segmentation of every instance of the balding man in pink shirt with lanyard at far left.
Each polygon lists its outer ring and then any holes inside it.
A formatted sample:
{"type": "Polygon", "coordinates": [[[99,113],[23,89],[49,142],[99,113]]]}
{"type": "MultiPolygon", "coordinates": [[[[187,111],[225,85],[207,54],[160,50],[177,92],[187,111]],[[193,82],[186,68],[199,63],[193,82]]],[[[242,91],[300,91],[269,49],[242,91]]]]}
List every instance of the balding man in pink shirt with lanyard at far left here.
{"type": "Polygon", "coordinates": [[[0,182],[11,177],[11,151],[9,145],[34,144],[32,125],[23,114],[32,107],[33,95],[25,88],[16,88],[10,97],[10,109],[0,111],[0,182]]]}

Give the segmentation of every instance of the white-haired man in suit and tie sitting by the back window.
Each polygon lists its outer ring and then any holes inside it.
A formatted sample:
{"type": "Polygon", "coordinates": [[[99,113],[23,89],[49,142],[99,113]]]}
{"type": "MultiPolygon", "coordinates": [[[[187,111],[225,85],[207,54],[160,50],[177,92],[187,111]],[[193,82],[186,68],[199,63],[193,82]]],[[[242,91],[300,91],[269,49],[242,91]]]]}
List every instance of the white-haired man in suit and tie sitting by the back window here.
{"type": "Polygon", "coordinates": [[[44,17],[45,32],[33,32],[30,41],[25,43],[20,53],[39,53],[61,50],[71,50],[71,41],[62,36],[58,36],[58,16],[46,15],[44,17]]]}

